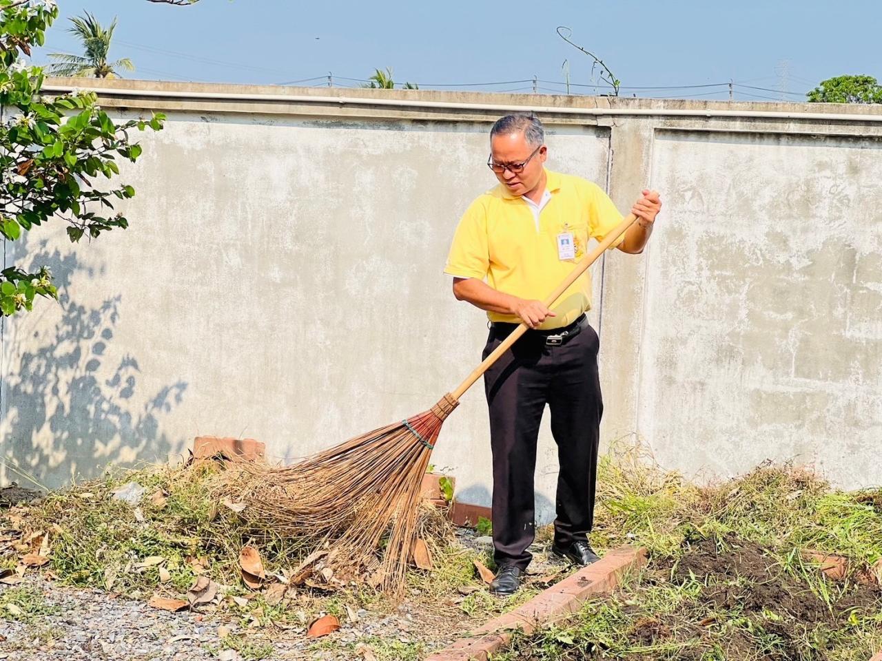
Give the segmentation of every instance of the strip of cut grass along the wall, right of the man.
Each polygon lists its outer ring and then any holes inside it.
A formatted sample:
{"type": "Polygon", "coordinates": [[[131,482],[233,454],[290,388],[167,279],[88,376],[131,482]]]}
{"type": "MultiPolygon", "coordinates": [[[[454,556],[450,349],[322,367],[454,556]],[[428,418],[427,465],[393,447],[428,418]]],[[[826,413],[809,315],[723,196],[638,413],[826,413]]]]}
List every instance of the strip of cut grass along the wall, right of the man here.
{"type": "Polygon", "coordinates": [[[832,490],[804,467],[770,462],[696,486],[639,449],[618,447],[598,467],[592,540],[600,548],[639,544],[668,557],[692,538],[734,533],[781,553],[838,553],[866,570],[882,559],[880,502],[882,489],[832,490]]]}

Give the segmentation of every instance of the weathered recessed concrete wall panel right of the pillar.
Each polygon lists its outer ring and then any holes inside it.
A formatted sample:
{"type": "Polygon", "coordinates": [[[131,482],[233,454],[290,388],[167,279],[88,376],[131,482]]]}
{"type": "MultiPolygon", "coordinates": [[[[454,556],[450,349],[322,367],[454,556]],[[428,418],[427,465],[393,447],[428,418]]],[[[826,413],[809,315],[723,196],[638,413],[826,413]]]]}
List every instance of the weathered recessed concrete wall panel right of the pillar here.
{"type": "Polygon", "coordinates": [[[663,464],[728,475],[796,458],[880,481],[880,148],[656,134],[671,222],[647,259],[638,427],[663,464]]]}

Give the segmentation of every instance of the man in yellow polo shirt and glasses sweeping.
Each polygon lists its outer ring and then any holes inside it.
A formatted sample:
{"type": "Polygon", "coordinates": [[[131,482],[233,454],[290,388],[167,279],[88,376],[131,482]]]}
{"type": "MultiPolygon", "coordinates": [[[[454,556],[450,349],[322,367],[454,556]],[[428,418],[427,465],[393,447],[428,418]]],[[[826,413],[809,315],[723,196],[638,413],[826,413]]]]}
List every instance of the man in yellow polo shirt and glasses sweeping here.
{"type": "MultiPolygon", "coordinates": [[[[484,358],[519,323],[531,329],[484,374],[498,568],[490,591],[497,595],[518,590],[532,558],[536,439],[546,404],[560,464],[552,551],[579,565],[598,560],[587,538],[603,410],[599,339],[585,317],[590,274],[552,308],[542,300],[572,271],[588,239],[602,241],[622,216],[594,183],[546,170],[544,139],[532,115],[506,115],[493,125],[487,165],[499,185],[468,207],[445,266],[456,298],[488,312],[484,358]]],[[[632,207],[638,221],[618,249],[642,252],[661,207],[658,193],[644,190],[632,207]]]]}

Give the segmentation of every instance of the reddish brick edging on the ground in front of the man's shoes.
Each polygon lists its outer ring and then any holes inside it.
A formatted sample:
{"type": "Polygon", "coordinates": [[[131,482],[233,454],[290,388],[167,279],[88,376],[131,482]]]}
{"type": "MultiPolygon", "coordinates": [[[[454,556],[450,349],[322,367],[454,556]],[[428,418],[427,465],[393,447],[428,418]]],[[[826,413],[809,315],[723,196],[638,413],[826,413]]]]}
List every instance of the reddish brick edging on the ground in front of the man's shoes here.
{"type": "Polygon", "coordinates": [[[621,546],[613,549],[600,561],[579,569],[526,604],[490,620],[476,629],[474,635],[461,638],[445,650],[434,652],[425,661],[487,661],[490,654],[512,639],[512,630],[520,629],[525,634],[531,634],[538,628],[563,620],[576,613],[587,598],[612,590],[626,572],[641,568],[646,563],[645,548],[621,546]]]}

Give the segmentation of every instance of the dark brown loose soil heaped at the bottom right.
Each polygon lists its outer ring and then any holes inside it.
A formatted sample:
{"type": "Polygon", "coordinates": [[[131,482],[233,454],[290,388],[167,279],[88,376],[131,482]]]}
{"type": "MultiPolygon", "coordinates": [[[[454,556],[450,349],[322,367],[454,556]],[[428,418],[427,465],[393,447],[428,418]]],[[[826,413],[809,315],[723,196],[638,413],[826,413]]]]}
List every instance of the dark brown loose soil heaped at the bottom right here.
{"type": "MultiPolygon", "coordinates": [[[[559,661],[825,661],[840,644],[841,632],[848,630],[849,615],[878,613],[882,608],[882,588],[876,584],[832,584],[831,592],[837,596],[832,607],[762,546],[737,538],[723,539],[718,546],[715,539],[704,539],[678,561],[655,563],[638,588],[615,595],[631,620],[626,633],[631,651],[621,646],[608,649],[600,642],[595,643],[598,649],[591,641],[577,640],[572,649],[551,657],[559,661]],[[672,613],[649,612],[641,604],[640,592],[662,583],[693,587],[698,583],[699,596],[672,613]]],[[[518,650],[517,658],[523,661],[549,658],[534,649],[530,639],[520,642],[518,650]]]]}

